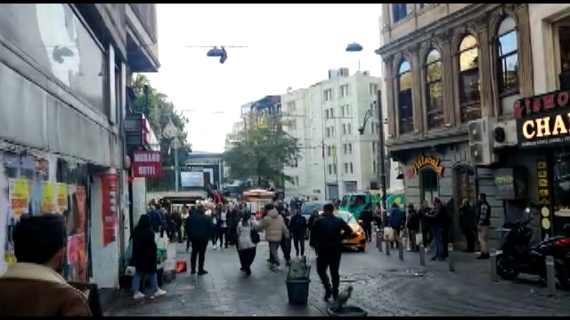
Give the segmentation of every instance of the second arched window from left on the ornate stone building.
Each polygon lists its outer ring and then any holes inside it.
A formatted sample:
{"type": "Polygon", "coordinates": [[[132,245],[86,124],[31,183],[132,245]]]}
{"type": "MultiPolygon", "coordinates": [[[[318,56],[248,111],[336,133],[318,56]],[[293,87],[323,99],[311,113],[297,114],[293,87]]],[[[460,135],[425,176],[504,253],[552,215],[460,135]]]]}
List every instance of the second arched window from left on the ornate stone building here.
{"type": "Polygon", "coordinates": [[[425,60],[427,129],[443,126],[441,55],[432,49],[425,60]]]}

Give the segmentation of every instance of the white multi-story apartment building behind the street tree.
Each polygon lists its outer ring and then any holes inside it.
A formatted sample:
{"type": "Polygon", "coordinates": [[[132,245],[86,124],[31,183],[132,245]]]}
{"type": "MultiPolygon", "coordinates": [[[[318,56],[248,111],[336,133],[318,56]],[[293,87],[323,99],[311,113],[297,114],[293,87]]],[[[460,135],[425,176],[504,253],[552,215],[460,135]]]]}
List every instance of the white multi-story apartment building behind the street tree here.
{"type": "Polygon", "coordinates": [[[301,145],[298,161],[285,168],[294,178],[286,184],[286,198],[339,199],[378,187],[380,121],[374,101],[379,85],[368,72],[349,75],[340,68],[330,70],[326,80],[281,96],[284,128],[301,145]]]}

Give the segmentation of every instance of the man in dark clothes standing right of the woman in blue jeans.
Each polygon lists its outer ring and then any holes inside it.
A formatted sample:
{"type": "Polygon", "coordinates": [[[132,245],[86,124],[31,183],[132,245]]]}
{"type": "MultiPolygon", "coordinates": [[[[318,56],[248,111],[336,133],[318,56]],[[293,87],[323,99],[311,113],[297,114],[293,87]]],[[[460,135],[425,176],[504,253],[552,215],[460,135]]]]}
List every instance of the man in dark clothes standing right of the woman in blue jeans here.
{"type": "Polygon", "coordinates": [[[196,258],[198,257],[198,274],[206,274],[204,261],[206,259],[206,247],[208,240],[213,236],[214,225],[210,217],[204,215],[204,207],[198,207],[196,214],[188,218],[190,220],[188,237],[192,241],[192,256],[190,256],[190,266],[192,274],[196,273],[196,258]]]}

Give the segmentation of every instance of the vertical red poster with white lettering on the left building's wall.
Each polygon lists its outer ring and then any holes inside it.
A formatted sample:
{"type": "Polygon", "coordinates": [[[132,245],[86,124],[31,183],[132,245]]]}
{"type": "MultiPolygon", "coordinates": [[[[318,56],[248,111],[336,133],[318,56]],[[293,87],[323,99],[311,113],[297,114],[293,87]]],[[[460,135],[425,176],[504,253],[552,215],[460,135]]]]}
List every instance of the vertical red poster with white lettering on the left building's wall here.
{"type": "Polygon", "coordinates": [[[101,192],[103,195],[103,246],[116,239],[115,224],[117,221],[117,175],[101,175],[101,192]]]}

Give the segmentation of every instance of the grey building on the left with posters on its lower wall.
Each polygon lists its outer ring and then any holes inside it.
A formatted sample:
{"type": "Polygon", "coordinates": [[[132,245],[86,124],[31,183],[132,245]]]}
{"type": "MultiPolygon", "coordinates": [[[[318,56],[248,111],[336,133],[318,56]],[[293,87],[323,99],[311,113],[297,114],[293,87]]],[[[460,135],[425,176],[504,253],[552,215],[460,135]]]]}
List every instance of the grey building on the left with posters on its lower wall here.
{"type": "Polygon", "coordinates": [[[133,72],[157,71],[157,49],[153,3],[0,4],[0,273],[18,219],[58,213],[66,278],[119,286],[127,88],[133,72]]]}

